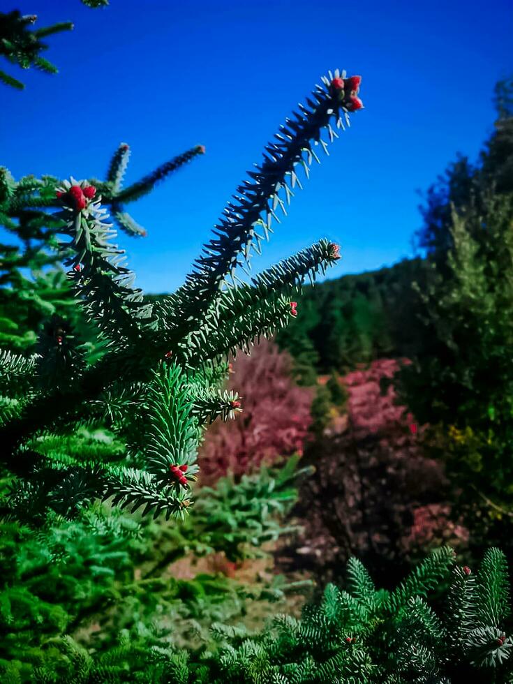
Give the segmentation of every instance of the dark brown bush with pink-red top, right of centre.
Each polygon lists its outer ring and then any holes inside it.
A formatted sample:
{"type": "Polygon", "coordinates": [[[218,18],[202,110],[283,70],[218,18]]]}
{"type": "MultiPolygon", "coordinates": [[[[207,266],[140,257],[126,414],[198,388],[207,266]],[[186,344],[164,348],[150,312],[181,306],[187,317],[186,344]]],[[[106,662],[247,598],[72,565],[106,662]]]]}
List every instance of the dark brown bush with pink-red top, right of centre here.
{"type": "Polygon", "coordinates": [[[316,472],[292,512],[304,525],[301,558],[292,548],[284,553],[323,581],[339,579],[355,555],[393,584],[422,547],[466,540],[466,530],[449,521],[443,468],[422,452],[423,429],[396,405],[392,385],[380,389],[396,369],[393,359],[380,359],[348,373],[345,429],[308,447],[316,472]]]}

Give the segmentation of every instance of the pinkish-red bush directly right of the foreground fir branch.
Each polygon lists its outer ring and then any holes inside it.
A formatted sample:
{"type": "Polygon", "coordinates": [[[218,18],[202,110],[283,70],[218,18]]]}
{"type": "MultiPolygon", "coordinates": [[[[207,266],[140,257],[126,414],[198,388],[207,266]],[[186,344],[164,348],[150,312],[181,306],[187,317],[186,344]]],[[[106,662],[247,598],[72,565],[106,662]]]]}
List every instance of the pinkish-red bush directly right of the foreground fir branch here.
{"type": "Polygon", "coordinates": [[[240,354],[229,387],[241,396],[235,421],[214,423],[200,451],[202,483],[235,477],[302,452],[308,438],[312,391],[292,380],[292,359],[272,341],[255,345],[251,356],[240,354]]]}

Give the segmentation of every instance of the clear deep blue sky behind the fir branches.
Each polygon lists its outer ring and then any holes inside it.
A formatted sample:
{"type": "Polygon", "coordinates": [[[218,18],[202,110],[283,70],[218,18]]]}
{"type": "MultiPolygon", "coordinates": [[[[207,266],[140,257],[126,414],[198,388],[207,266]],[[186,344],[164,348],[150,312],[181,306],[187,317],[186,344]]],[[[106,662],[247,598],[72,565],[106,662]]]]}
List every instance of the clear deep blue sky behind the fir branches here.
{"type": "Polygon", "coordinates": [[[0,164],[103,177],[119,142],[127,179],[202,143],[205,157],[130,206],[148,230],[120,236],[137,284],[176,288],[263,145],[328,69],[361,74],[365,110],[315,165],[253,268],[320,237],[339,241],[331,277],[411,255],[419,195],[457,151],[474,159],[492,130],[493,84],[513,68],[510,0],[2,0],[52,36],[50,77],[13,70],[0,89],[0,164]]]}

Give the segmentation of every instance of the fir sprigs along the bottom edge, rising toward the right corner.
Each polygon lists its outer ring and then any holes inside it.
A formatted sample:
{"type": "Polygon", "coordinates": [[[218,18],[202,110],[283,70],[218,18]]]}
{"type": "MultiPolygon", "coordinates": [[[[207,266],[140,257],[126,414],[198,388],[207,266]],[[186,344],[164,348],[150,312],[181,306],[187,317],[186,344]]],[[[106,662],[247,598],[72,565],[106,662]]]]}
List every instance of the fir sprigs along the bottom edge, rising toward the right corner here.
{"type": "Polygon", "coordinates": [[[35,681],[57,681],[57,675],[63,682],[130,677],[168,684],[507,682],[508,592],[498,549],[485,553],[476,573],[455,566],[452,551],[440,549],[392,591],[376,589],[352,558],[346,588],[329,584],[299,620],[278,615],[256,633],[214,623],[194,650],[144,627],[124,632],[101,655],[65,637],[53,642],[35,681]]]}

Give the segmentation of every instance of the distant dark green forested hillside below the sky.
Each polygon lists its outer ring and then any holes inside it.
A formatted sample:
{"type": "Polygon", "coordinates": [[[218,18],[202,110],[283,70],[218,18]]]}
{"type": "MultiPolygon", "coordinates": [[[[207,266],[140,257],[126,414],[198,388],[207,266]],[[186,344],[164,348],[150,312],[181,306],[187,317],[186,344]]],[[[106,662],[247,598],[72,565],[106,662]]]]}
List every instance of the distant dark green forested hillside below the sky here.
{"type": "Polygon", "coordinates": [[[299,315],[278,336],[295,357],[300,378],[310,370],[346,371],[380,357],[410,356],[419,343],[421,258],[378,271],[348,275],[304,288],[299,315]]]}

